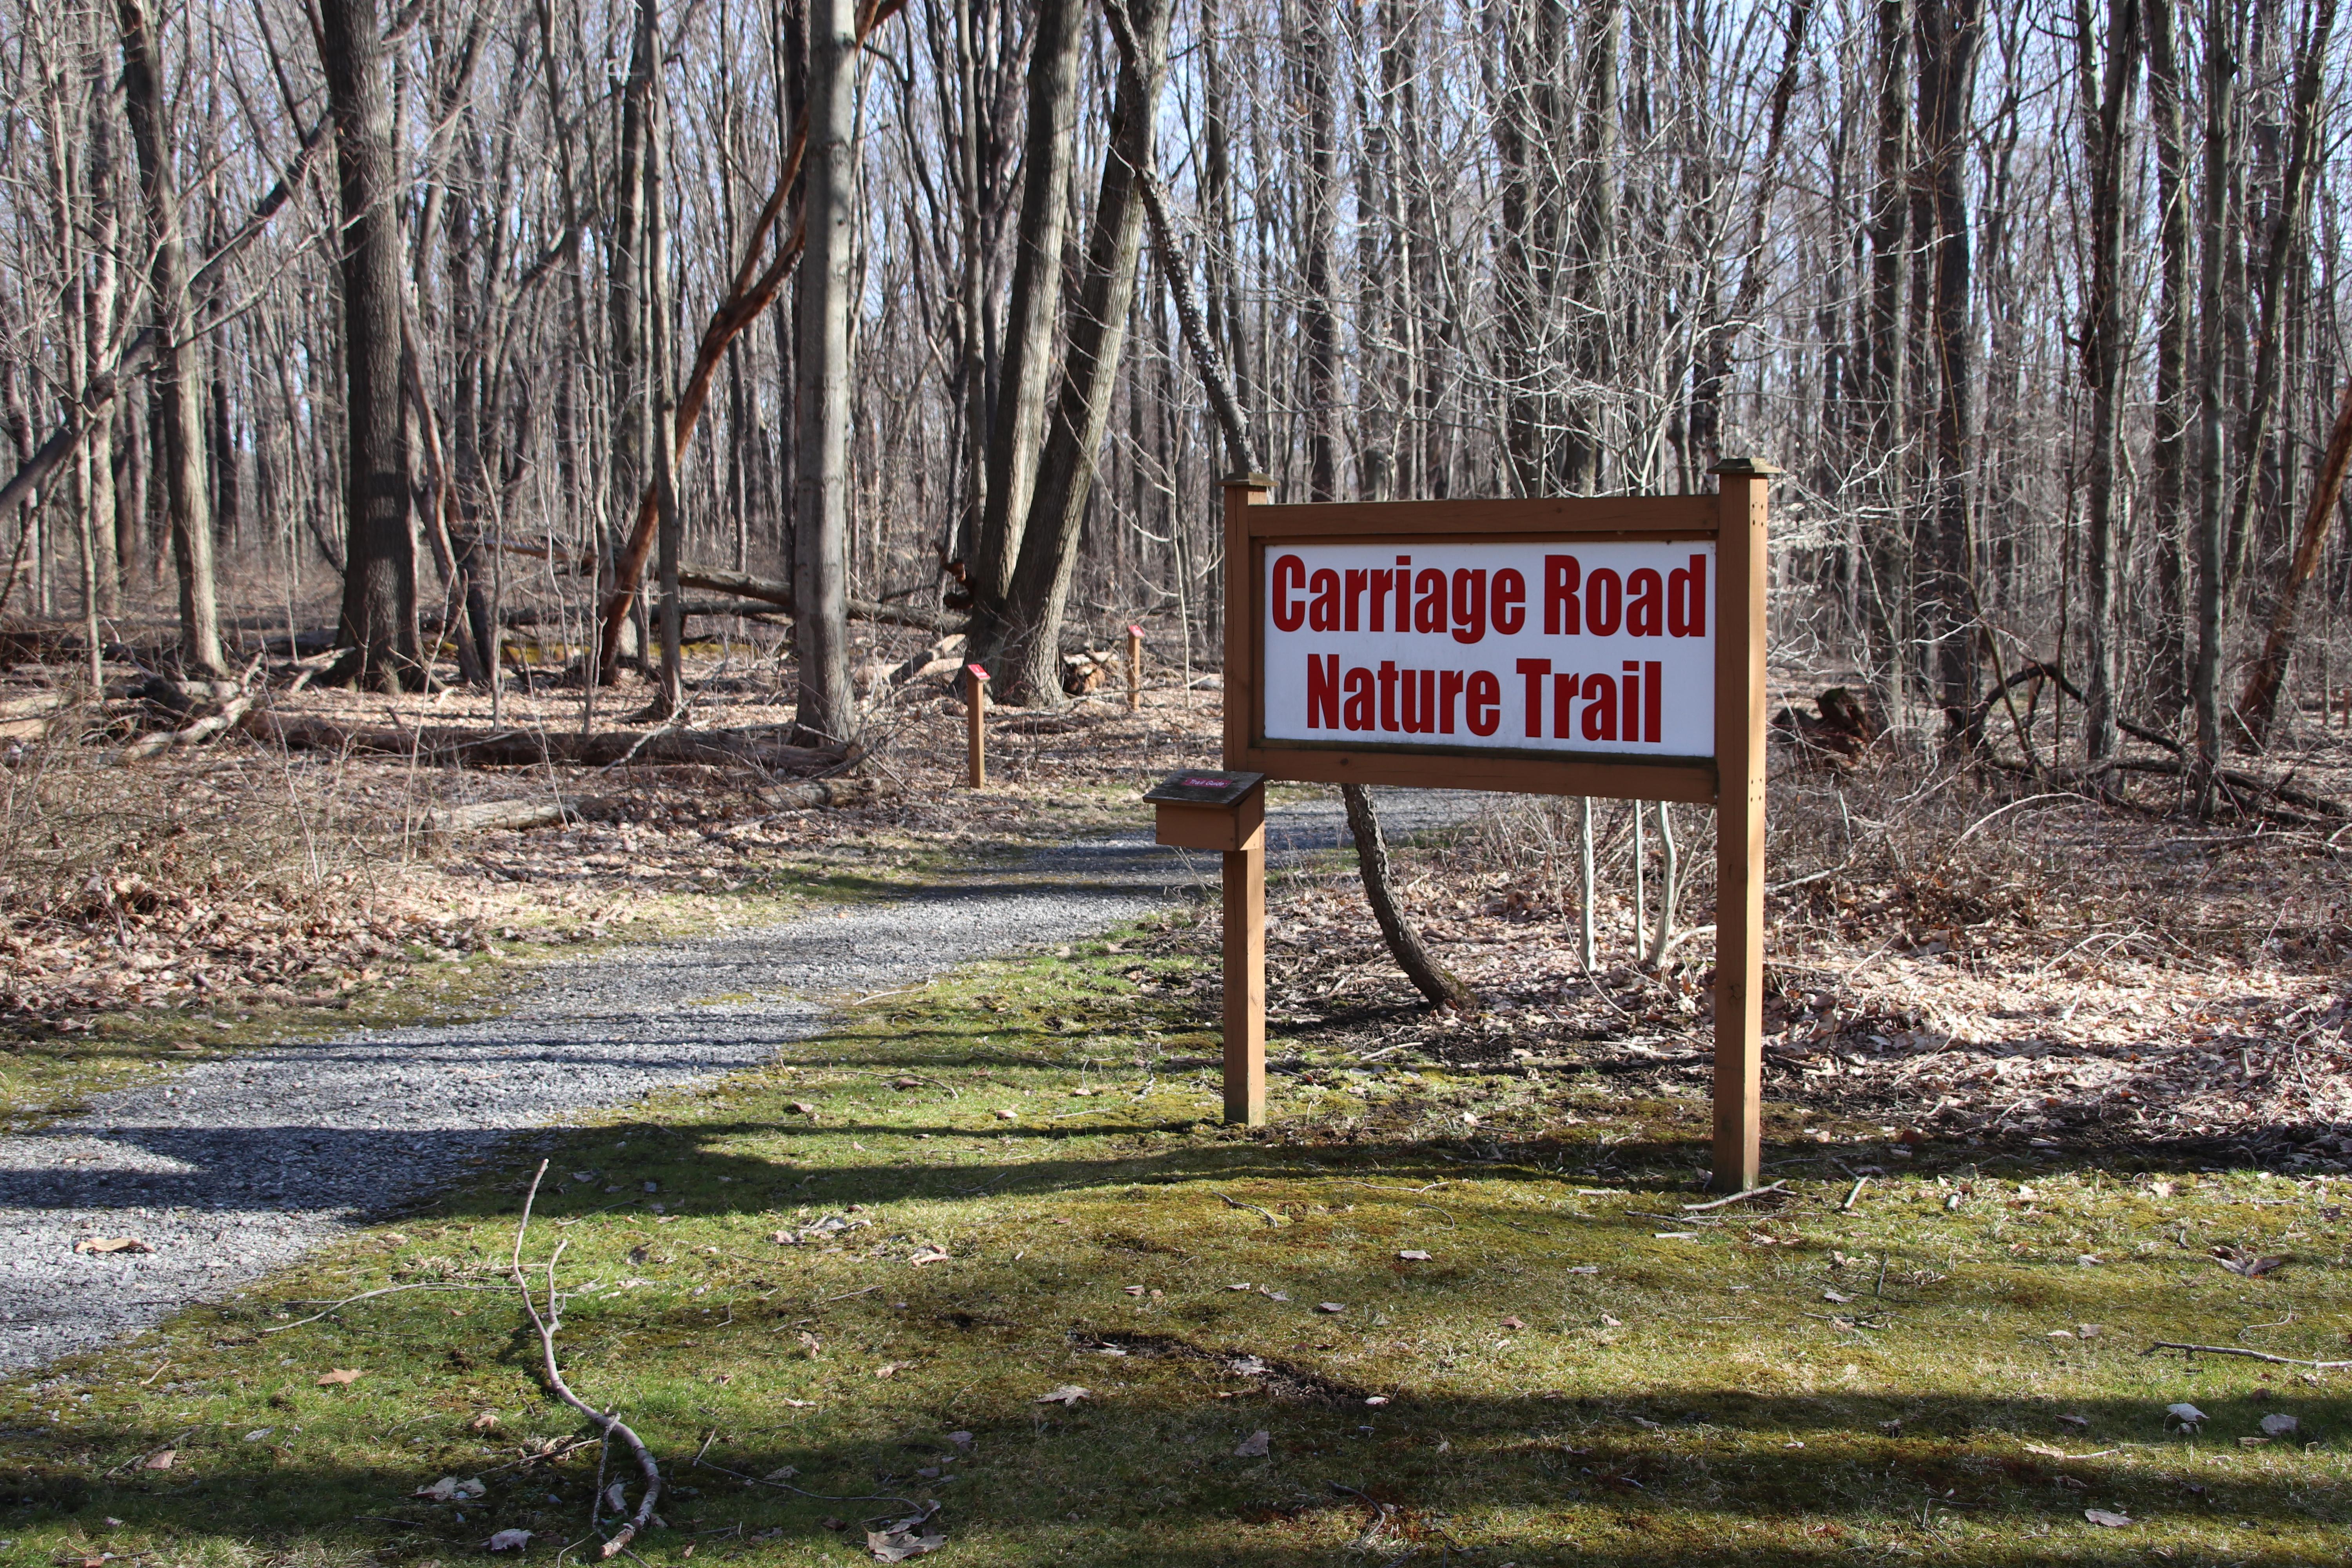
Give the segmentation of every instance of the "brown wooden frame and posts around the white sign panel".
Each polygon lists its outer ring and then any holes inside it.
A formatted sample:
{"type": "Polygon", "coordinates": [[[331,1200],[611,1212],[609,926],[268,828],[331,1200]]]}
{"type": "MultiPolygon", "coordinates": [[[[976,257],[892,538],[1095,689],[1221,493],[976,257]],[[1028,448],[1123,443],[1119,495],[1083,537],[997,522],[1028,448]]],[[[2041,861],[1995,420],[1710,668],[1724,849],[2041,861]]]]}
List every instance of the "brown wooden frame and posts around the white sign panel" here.
{"type": "MultiPolygon", "coordinates": [[[[1712,496],[1562,501],[1383,501],[1272,505],[1272,480],[1225,480],[1225,769],[1298,783],[1602,795],[1717,809],[1715,1175],[1757,1185],[1762,1164],[1764,992],[1764,538],[1771,463],[1710,468],[1712,496]],[[1275,543],[1604,543],[1715,545],[1715,755],[1595,759],[1477,748],[1402,750],[1268,741],[1265,550],[1275,543]]],[[[1263,802],[1261,802],[1263,809],[1263,802]]],[[[1265,1119],[1265,839],[1225,853],[1225,1119],[1265,1119]]]]}

